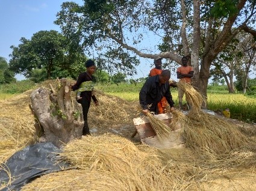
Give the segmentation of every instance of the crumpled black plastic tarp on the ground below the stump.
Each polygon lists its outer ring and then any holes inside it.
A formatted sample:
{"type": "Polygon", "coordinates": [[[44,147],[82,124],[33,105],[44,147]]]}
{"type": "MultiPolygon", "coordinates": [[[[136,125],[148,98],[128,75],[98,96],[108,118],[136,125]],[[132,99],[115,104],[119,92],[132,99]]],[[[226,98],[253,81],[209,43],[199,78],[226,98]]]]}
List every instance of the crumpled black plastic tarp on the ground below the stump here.
{"type": "Polygon", "coordinates": [[[11,183],[1,191],[20,190],[22,186],[36,177],[67,168],[67,163],[58,160],[58,153],[61,153],[61,150],[51,142],[30,145],[14,153],[7,162],[1,165],[0,182],[2,185],[8,184],[9,175],[11,175],[11,183]]]}

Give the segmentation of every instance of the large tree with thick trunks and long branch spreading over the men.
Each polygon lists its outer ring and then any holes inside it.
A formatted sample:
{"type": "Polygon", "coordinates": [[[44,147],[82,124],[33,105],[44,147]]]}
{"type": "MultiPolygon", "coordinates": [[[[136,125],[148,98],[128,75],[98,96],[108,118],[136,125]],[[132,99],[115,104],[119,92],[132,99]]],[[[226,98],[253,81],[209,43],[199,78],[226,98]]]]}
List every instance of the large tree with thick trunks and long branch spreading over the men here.
{"type": "Polygon", "coordinates": [[[96,50],[99,64],[111,70],[132,71],[138,64],[134,54],[154,58],[156,52],[141,44],[151,31],[162,37],[155,44],[162,58],[181,64],[181,56],[190,56],[195,86],[207,96],[214,59],[242,26],[250,28],[254,21],[255,0],[85,0],[81,6],[63,3],[55,23],[67,37],[96,50]]]}

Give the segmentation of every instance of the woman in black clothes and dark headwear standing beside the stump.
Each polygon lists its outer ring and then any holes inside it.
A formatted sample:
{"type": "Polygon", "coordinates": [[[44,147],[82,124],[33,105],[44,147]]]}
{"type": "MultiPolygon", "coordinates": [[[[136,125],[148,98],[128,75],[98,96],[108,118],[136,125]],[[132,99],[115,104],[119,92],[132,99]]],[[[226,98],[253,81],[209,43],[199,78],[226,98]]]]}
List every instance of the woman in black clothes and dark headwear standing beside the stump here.
{"type": "Polygon", "coordinates": [[[84,117],[84,127],[83,127],[83,135],[90,135],[90,130],[87,122],[88,111],[90,108],[91,100],[95,102],[95,105],[98,106],[98,100],[93,94],[93,88],[95,78],[92,75],[95,73],[96,67],[95,62],[92,59],[86,61],[86,71],[81,73],[76,80],[75,85],[71,88],[73,91],[76,89],[80,92],[81,99],[77,99],[78,103],[81,103],[83,108],[83,117],[84,117]]]}

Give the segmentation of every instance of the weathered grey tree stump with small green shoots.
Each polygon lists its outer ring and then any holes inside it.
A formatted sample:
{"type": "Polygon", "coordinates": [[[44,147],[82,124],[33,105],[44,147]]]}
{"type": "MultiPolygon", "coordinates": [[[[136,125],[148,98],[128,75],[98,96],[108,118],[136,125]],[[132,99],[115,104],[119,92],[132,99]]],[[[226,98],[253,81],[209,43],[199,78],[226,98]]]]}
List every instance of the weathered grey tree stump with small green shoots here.
{"type": "MultiPolygon", "coordinates": [[[[55,90],[40,87],[31,93],[34,115],[43,129],[39,142],[52,142],[57,147],[76,138],[83,132],[83,111],[75,96],[71,96],[70,80],[61,79],[55,90]]],[[[40,133],[37,132],[37,135],[40,133]]]]}

